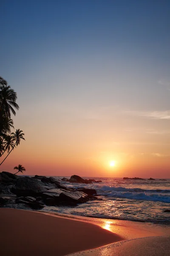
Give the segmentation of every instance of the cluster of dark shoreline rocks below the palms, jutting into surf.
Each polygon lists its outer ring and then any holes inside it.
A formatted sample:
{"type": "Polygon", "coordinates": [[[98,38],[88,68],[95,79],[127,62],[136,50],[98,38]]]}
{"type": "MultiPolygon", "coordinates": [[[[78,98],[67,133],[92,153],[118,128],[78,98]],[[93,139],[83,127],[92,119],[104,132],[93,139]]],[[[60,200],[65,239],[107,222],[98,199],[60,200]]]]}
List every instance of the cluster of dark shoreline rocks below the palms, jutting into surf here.
{"type": "MultiPolygon", "coordinates": [[[[85,180],[77,175],[68,180],[76,183],[101,182],[85,180]]],[[[42,209],[45,205],[62,206],[97,200],[95,189],[74,189],[64,186],[54,177],[35,175],[34,177],[17,176],[10,172],[0,173],[0,207],[20,209],[42,209]]]]}

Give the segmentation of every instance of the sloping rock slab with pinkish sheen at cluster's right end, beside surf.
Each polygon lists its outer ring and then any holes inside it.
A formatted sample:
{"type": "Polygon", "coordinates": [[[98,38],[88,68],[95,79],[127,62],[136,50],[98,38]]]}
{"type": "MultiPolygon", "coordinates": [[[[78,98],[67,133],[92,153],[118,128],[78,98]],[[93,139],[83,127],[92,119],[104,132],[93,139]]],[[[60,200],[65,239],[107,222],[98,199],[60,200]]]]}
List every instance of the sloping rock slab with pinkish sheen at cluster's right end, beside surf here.
{"type": "Polygon", "coordinates": [[[88,195],[86,195],[83,192],[75,191],[63,191],[59,195],[59,201],[69,201],[69,202],[74,202],[76,204],[82,204],[85,203],[89,200],[88,195]]]}

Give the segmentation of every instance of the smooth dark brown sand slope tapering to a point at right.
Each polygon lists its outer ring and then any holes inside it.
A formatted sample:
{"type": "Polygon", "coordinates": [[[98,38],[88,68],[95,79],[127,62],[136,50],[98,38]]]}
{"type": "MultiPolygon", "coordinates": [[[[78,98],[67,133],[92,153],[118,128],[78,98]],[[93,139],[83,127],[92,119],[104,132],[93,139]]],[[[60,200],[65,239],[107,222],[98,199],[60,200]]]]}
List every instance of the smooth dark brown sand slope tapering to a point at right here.
{"type": "Polygon", "coordinates": [[[85,221],[0,209],[1,256],[64,256],[121,240],[121,236],[85,221]]]}

